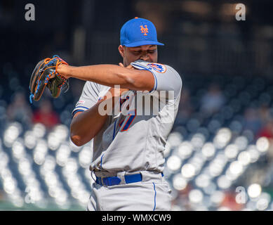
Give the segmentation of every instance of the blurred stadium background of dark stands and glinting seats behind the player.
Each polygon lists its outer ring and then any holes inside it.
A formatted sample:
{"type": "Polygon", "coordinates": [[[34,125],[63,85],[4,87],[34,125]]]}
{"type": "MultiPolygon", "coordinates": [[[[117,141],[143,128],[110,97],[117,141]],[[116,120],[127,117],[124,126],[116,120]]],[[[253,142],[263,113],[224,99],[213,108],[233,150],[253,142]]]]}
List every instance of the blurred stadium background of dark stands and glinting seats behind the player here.
{"type": "Polygon", "coordinates": [[[121,62],[121,26],[157,27],[159,62],[183,80],[166,147],[173,210],[273,210],[272,1],[0,1],[0,210],[85,210],[91,143],[69,141],[84,82],[29,104],[41,58],[121,62]],[[35,21],[25,20],[25,5],[35,21]],[[246,20],[235,20],[237,3],[246,20]],[[244,201],[245,200],[245,201],[244,201]]]}

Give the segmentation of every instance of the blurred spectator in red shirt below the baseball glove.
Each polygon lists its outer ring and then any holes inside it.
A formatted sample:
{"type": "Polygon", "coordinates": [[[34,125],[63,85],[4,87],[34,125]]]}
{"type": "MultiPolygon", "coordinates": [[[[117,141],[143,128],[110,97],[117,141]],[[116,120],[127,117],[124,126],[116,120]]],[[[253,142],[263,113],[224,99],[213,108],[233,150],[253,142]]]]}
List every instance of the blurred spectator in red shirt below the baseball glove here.
{"type": "Polygon", "coordinates": [[[46,99],[41,101],[39,110],[34,112],[32,121],[33,123],[44,124],[47,129],[51,129],[56,124],[60,123],[60,118],[59,115],[53,110],[51,101],[46,99]]]}

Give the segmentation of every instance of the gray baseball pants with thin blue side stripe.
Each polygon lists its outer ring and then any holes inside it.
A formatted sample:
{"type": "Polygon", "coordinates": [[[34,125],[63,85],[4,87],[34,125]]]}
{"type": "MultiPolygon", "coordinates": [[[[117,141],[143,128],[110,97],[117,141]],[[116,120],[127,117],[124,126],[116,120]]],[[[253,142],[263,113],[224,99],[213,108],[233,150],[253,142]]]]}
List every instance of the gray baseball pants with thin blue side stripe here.
{"type": "MultiPolygon", "coordinates": [[[[93,182],[87,211],[170,211],[171,188],[161,174],[141,172],[142,181],[125,184],[124,172],[116,176],[121,184],[100,186],[93,182]]],[[[126,173],[128,174],[128,173],[126,173]]],[[[99,176],[98,174],[96,174],[99,176]]],[[[103,174],[102,176],[106,176],[103,174]]]]}

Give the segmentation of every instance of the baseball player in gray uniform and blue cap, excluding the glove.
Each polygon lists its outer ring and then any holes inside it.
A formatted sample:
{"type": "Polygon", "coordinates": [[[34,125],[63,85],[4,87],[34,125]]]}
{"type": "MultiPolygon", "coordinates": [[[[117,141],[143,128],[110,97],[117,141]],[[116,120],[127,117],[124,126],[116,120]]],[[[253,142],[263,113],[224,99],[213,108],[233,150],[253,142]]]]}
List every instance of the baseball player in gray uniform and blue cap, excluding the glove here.
{"type": "Polygon", "coordinates": [[[57,69],[65,79],[86,81],[72,112],[70,136],[76,146],[93,139],[90,170],[95,182],[87,210],[171,210],[164,148],[178,112],[182,80],[171,66],[157,63],[157,46],[164,44],[157,41],[152,22],[133,18],[120,34],[123,63],[61,64],[57,69]],[[150,100],[145,106],[160,103],[157,113],[139,113],[135,105],[144,98],[150,100]],[[108,103],[119,113],[105,110],[108,103]]]}

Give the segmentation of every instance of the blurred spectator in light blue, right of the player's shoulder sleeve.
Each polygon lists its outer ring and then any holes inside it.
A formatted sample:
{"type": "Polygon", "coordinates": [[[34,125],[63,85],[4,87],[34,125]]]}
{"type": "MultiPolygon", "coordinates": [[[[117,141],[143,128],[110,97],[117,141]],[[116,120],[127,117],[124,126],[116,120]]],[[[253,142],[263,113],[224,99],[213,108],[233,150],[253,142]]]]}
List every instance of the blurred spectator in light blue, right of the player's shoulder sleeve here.
{"type": "Polygon", "coordinates": [[[225,96],[220,90],[218,84],[211,84],[207,93],[201,98],[201,111],[206,115],[217,113],[218,110],[224,105],[225,96]]]}

